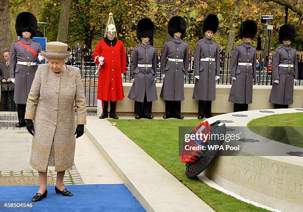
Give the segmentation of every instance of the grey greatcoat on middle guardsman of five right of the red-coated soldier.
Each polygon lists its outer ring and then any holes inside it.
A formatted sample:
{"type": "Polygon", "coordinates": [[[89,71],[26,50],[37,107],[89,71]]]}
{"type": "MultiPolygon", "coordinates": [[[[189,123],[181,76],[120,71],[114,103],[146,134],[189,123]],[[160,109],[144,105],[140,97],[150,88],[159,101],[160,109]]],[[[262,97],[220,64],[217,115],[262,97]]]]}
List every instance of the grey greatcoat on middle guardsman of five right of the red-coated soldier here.
{"type": "Polygon", "coordinates": [[[218,43],[207,38],[198,41],[194,55],[194,72],[195,76],[200,76],[200,79],[196,79],[193,99],[204,101],[215,100],[215,76],[220,76],[218,43]],[[215,61],[200,61],[201,58],[206,57],[213,58],[215,61]]]}

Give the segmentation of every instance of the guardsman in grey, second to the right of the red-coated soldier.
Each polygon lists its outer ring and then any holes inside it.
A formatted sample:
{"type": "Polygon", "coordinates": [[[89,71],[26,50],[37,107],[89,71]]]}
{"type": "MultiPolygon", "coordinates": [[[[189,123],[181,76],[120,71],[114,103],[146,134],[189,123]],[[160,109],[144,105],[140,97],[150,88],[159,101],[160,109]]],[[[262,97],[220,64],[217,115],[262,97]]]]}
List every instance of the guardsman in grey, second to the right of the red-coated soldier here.
{"type": "Polygon", "coordinates": [[[168,33],[172,37],[163,45],[161,74],[164,78],[160,97],[166,101],[167,118],[183,119],[181,101],[184,100],[184,76],[188,73],[188,44],[181,38],[186,31],[186,22],[181,16],[173,16],[168,22],[168,33]]]}

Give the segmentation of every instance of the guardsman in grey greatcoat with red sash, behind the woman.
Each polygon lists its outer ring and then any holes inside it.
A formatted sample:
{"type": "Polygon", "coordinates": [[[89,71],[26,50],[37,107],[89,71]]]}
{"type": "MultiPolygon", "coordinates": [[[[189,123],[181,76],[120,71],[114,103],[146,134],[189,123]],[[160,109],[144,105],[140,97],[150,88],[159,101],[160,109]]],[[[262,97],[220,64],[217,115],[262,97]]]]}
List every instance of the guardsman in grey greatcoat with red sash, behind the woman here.
{"type": "Polygon", "coordinates": [[[35,78],[36,62],[41,62],[43,56],[40,54],[42,51],[40,44],[32,40],[37,32],[37,19],[32,13],[19,13],[15,29],[17,35],[22,39],[11,45],[9,66],[11,69],[10,78],[15,83],[14,100],[17,104],[19,119],[16,127],[23,127],[26,125],[24,119],[26,101],[35,78]]]}

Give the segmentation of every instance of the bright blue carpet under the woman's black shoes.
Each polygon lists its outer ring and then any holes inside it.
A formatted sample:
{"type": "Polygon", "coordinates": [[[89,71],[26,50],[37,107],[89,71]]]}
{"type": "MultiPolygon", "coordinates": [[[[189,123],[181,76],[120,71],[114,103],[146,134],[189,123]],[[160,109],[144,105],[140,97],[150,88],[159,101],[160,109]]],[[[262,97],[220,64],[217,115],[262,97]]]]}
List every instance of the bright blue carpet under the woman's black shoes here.
{"type": "Polygon", "coordinates": [[[74,196],[56,194],[48,186],[48,196],[33,203],[32,209],[4,209],[4,202],[30,203],[39,186],[0,186],[0,211],[2,212],[145,212],[124,184],[70,185],[74,196]]]}

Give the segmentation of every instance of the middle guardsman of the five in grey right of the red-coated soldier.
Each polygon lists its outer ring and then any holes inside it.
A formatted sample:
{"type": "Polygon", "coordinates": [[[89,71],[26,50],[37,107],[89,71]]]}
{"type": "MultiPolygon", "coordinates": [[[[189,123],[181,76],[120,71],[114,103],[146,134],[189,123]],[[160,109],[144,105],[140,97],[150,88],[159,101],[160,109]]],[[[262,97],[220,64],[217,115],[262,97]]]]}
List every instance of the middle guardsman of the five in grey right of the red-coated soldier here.
{"type": "Polygon", "coordinates": [[[211,101],[215,100],[216,80],[220,78],[220,50],[212,36],[219,26],[216,15],[209,14],[203,21],[202,32],[205,38],[198,41],[195,49],[194,70],[195,88],[193,99],[199,100],[198,119],[210,118],[211,101]]]}

